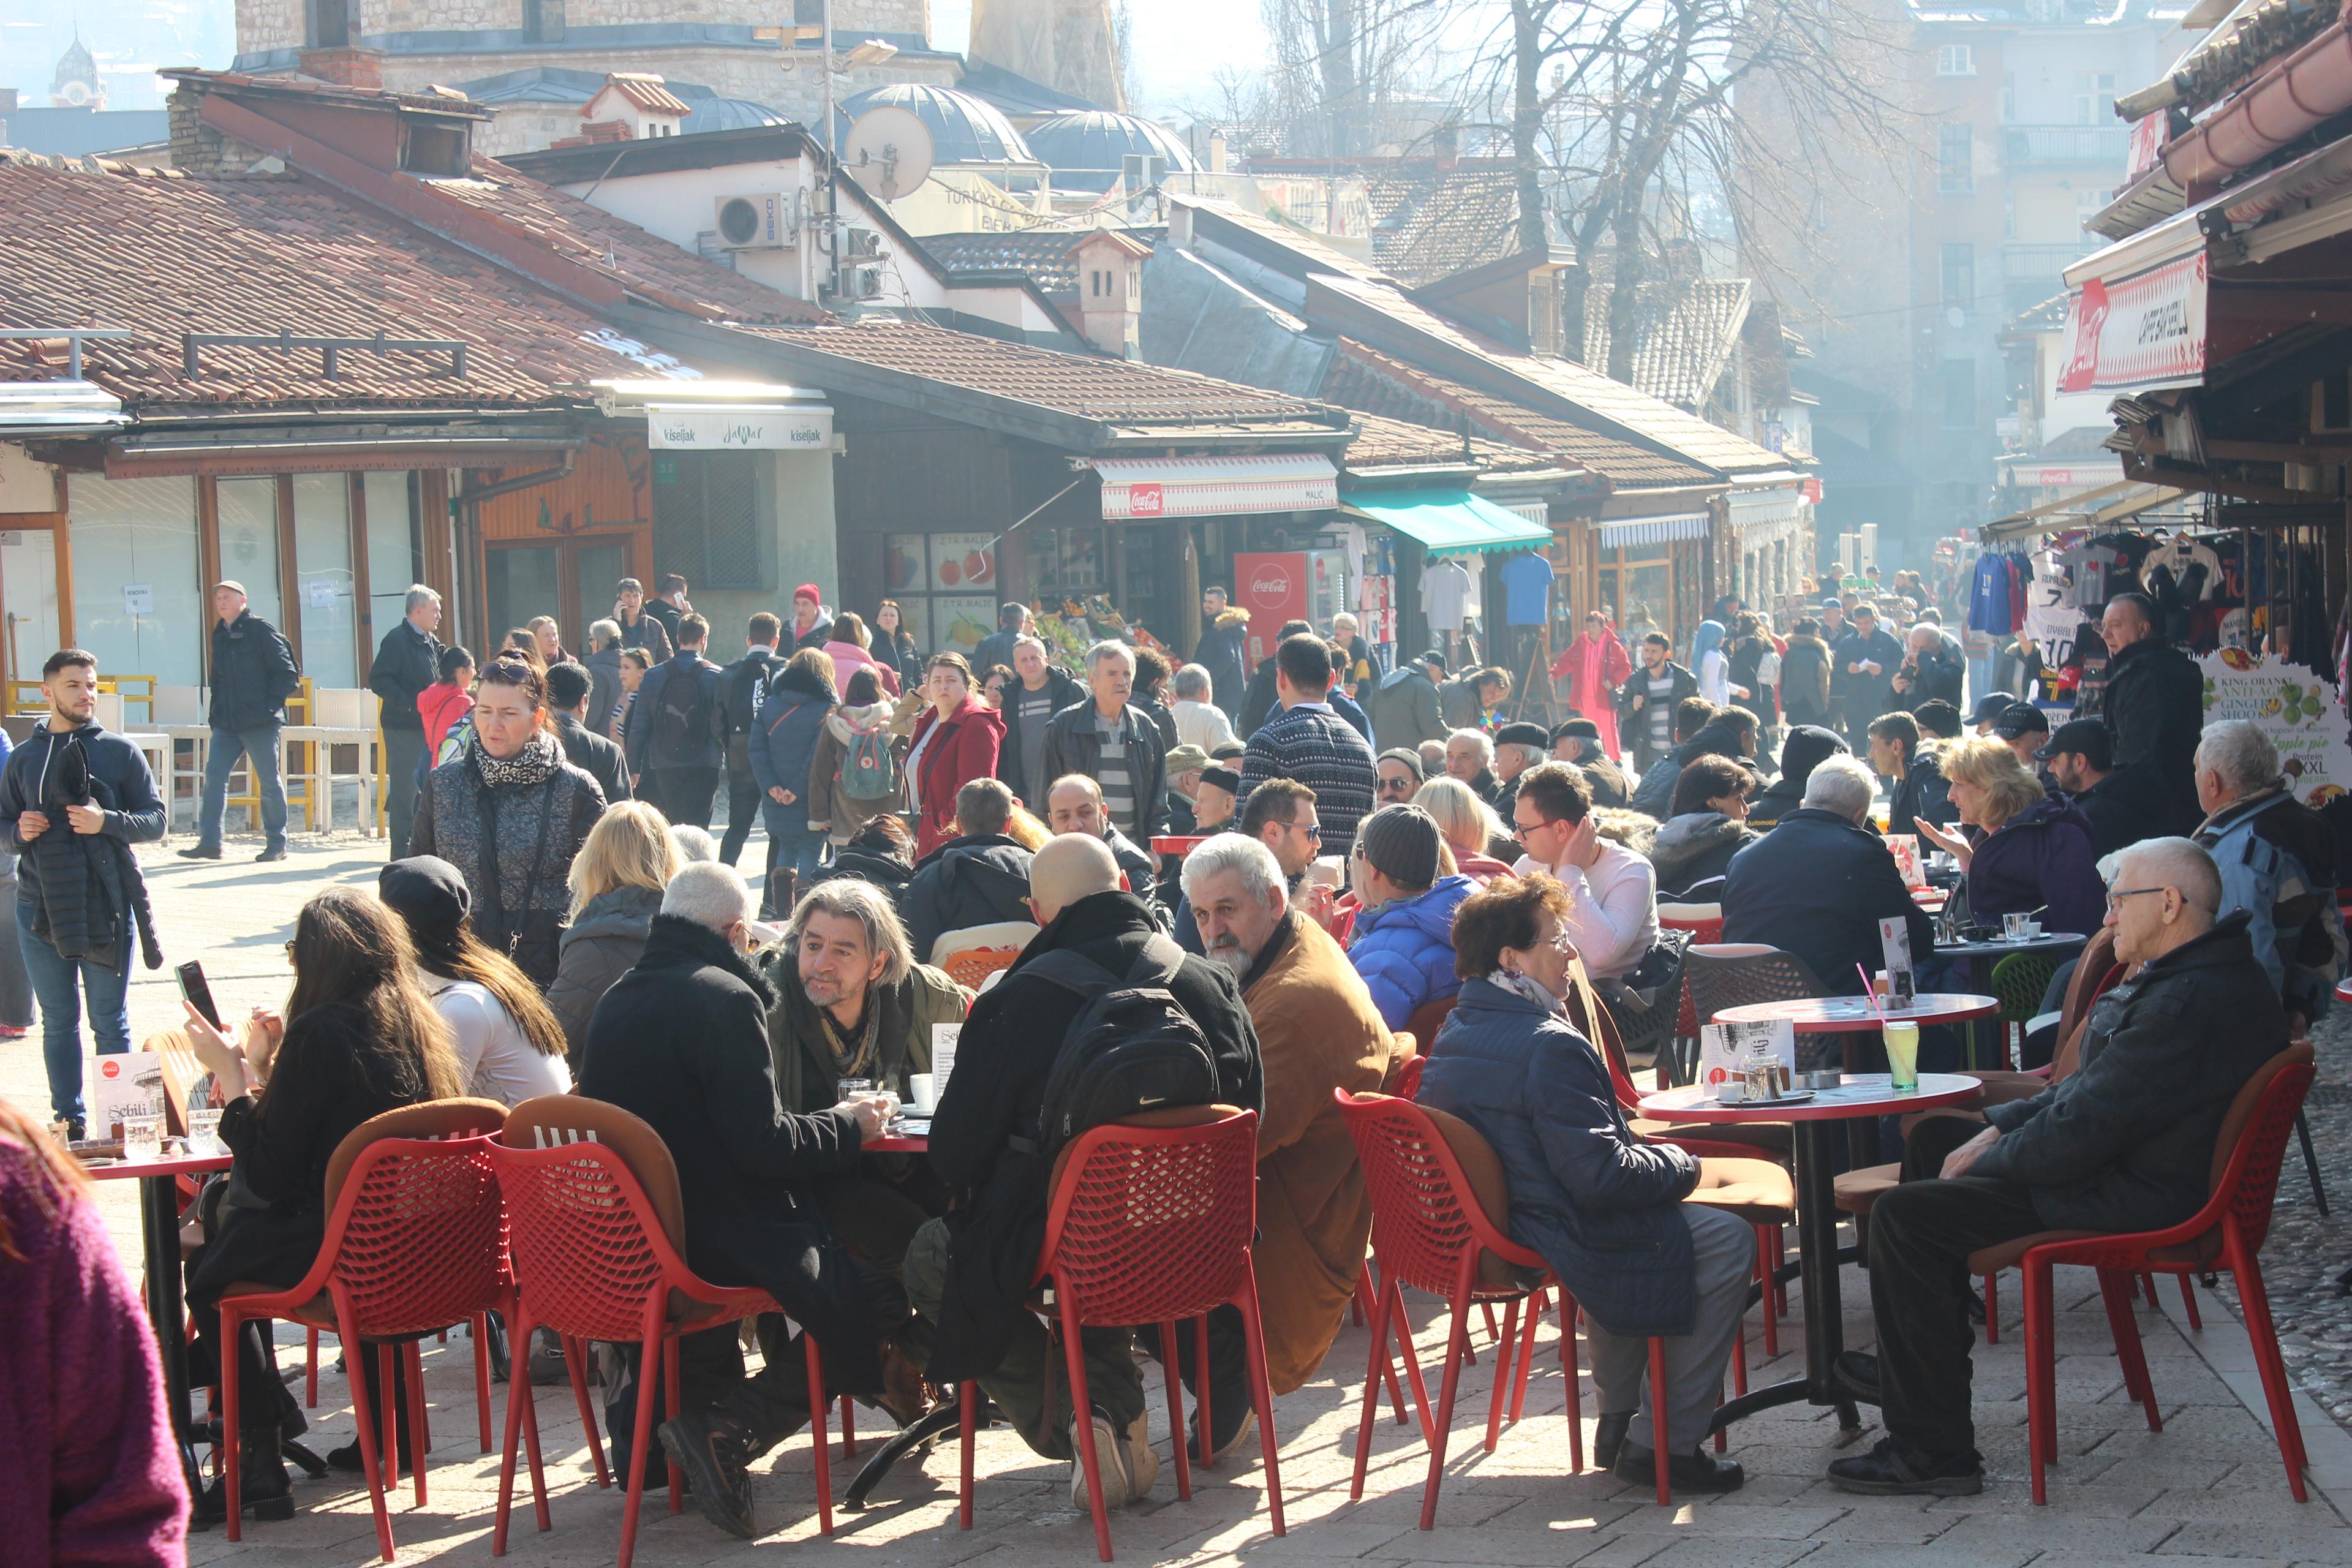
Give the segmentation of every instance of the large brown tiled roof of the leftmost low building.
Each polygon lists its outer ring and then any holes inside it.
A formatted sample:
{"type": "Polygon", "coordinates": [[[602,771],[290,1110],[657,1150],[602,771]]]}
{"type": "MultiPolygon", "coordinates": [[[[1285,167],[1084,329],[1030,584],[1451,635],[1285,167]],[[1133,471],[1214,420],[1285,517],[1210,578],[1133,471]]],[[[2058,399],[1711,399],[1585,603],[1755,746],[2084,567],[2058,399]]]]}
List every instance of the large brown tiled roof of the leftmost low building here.
{"type": "MultiPolygon", "coordinates": [[[[567,299],[292,176],[191,179],[82,160],[0,158],[0,324],[129,327],[89,346],[89,376],[127,404],[550,407],[586,383],[644,376],[623,339],[567,299]],[[181,334],[454,339],[449,355],[202,350],[181,334]],[[607,346],[616,343],[616,346],[607,346]]],[[[0,378],[54,371],[0,343],[0,378]]]]}

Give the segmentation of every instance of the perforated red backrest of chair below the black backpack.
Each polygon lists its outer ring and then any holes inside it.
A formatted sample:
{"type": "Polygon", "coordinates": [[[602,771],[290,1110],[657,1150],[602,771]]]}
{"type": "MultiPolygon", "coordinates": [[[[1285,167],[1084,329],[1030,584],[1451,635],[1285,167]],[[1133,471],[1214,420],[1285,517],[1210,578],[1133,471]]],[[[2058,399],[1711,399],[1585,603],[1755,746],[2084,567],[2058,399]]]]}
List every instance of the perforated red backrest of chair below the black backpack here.
{"type": "Polygon", "coordinates": [[[1037,1279],[1054,1274],[1080,1324],[1164,1324],[1242,1293],[1258,1229],[1258,1112],[1218,1110],[1195,1126],[1112,1121],[1065,1150],[1037,1279]]]}

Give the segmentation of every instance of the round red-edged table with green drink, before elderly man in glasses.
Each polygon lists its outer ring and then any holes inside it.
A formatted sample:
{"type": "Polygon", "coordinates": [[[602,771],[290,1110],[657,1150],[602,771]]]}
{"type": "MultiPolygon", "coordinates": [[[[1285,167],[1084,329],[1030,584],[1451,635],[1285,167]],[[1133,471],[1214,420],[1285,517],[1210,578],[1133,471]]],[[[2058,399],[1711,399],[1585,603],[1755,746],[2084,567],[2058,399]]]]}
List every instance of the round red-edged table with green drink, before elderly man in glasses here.
{"type": "MultiPolygon", "coordinates": [[[[1820,1001],[1837,1001],[1837,997],[1823,997],[1820,1001]]],[[[1990,1001],[1990,997],[1959,997],[1957,1001],[1990,1001]]],[[[1717,1013],[1717,1018],[1785,1006],[1797,1004],[1771,1001],[1729,1009],[1717,1013]]],[[[1853,1030],[1860,1025],[1799,1023],[1799,1027],[1853,1030]]],[[[1875,1018],[1870,1027],[1877,1027],[1875,1018]]],[[[1776,1382],[1724,1401],[1715,1410],[1710,1432],[1719,1432],[1757,1410],[1792,1403],[1835,1406],[1837,1420],[1846,1432],[1860,1429],[1860,1415],[1853,1406],[1856,1401],[1867,1401],[1867,1394],[1846,1387],[1837,1378],[1837,1356],[1846,1349],[1844,1302],[1837,1288],[1837,1267],[1842,1262],[1837,1251],[1837,1194],[1832,1190],[1837,1175],[1832,1143],[1837,1124],[1910,1114],[1940,1105],[1969,1105],[1983,1093],[1983,1084],[1957,1072],[1922,1072],[1915,1091],[1896,1093],[1884,1072],[1849,1072],[1839,1088],[1797,1093],[1806,1098],[1783,1098],[1769,1105],[1724,1105],[1712,1091],[1698,1084],[1642,1095],[1642,1114],[1658,1121],[1788,1121],[1797,1157],[1797,1279],[1804,1284],[1804,1378],[1776,1382]]]]}

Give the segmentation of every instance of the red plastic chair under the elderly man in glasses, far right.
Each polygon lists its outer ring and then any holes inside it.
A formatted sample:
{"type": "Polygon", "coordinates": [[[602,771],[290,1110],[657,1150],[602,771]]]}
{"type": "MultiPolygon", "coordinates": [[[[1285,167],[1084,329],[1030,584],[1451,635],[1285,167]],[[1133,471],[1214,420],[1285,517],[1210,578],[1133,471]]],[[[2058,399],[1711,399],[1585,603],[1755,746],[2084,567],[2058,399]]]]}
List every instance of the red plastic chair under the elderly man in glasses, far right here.
{"type": "Polygon", "coordinates": [[[2296,1041],[2246,1079],[2230,1103],[2220,1138],[2213,1140],[2213,1197],[2180,1225],[2107,1237],[2046,1232],[1997,1248],[2013,1253],[2023,1246],[2023,1258],[1992,1258],[1987,1253],[1969,1258],[1969,1269],[1976,1274],[1992,1272],[1978,1267],[1980,1262],[2011,1260],[2025,1272],[2025,1410],[2034,1502],[2046,1502],[2042,1472],[2058,1462],[2058,1324],[2051,1267],[2060,1262],[2098,1269],[2107,1326],[2114,1333],[2114,1354],[2124,1363],[2124,1385],[2145,1406],[2150,1432],[2161,1432],[2164,1418],[2157,1413],[2157,1389],[2147,1375],[2147,1359],[2140,1354],[2140,1326],[2133,1319],[2131,1300],[2133,1274],[2178,1274],[2183,1281],[2190,1274],[2220,1269],[2234,1274],[2246,1338],[2253,1342],[2253,1363],[2263,1375],[2263,1394],[2270,1399],[2270,1429],[2279,1439],[2279,1458],[2286,1460],[2286,1486],[2296,1502],[2310,1500],[2303,1488],[2303,1467],[2310,1460],[2303,1450],[2296,1394],[2286,1380],[2286,1361],[2279,1356],[2279,1328],[2270,1316],[2270,1293],[2263,1288],[2258,1253],[2270,1237],[2279,1164],[2286,1159],[2288,1138],[2296,1135],[2303,1095],[2312,1086],[2312,1063],[2310,1041],[2296,1041]]]}

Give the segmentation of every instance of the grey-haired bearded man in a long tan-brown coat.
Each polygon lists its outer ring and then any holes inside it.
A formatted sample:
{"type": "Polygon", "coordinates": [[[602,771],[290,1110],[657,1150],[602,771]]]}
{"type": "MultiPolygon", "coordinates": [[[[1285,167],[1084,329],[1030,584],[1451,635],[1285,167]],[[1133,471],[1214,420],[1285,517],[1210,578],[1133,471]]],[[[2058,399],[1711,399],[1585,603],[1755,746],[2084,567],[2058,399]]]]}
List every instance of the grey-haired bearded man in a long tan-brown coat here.
{"type": "MultiPolygon", "coordinates": [[[[1258,1114],[1258,1302],[1265,1321],[1265,1375],[1275,1394],[1308,1382],[1348,1319],[1364,1269],[1371,1199],[1355,1145],[1331,1100],[1381,1091],[1411,1056],[1381,1023],[1381,1009],[1348,952],[1289,903],[1282,865],[1263,842],[1221,832],[1183,863],[1183,891],[1200,922],[1202,950],[1232,971],[1265,1063],[1258,1114]]],[[[1192,1347],[1178,1361],[1200,1387],[1192,1347]]],[[[1249,1432],[1249,1375],[1242,1319],[1209,1314],[1209,1453],[1249,1432]]]]}

